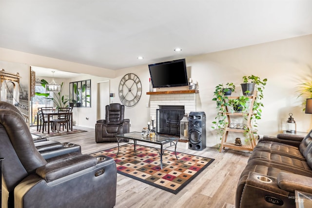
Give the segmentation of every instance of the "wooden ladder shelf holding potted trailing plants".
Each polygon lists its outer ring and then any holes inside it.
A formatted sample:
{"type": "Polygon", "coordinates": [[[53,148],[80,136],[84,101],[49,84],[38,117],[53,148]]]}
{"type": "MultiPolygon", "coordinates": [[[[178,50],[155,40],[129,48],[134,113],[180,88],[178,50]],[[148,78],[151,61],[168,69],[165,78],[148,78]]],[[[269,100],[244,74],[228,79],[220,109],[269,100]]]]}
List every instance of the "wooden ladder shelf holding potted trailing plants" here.
{"type": "MultiPolygon", "coordinates": [[[[255,139],[254,139],[254,132],[252,132],[252,123],[251,123],[251,116],[253,114],[253,106],[254,106],[254,100],[257,97],[257,91],[254,90],[254,94],[252,96],[248,96],[249,99],[251,99],[250,101],[250,107],[248,112],[244,112],[244,113],[230,113],[228,111],[228,107],[225,106],[224,108],[226,108],[226,116],[228,119],[228,125],[225,127],[223,135],[222,135],[222,140],[221,140],[221,146],[220,146],[220,152],[223,150],[225,150],[225,148],[231,148],[231,149],[235,149],[235,150],[246,150],[246,151],[253,151],[254,150],[254,146],[255,146],[255,139]],[[246,118],[246,124],[236,124],[236,123],[231,123],[231,116],[247,116],[246,118]],[[238,146],[235,145],[234,143],[229,143],[227,142],[227,138],[229,135],[229,132],[241,132],[241,133],[245,133],[248,132],[249,134],[249,138],[250,138],[250,145],[242,145],[242,146],[238,146]]],[[[230,96],[229,99],[239,99],[239,97],[234,97],[234,96],[230,96]]],[[[244,119],[244,118],[243,118],[244,119]]]]}

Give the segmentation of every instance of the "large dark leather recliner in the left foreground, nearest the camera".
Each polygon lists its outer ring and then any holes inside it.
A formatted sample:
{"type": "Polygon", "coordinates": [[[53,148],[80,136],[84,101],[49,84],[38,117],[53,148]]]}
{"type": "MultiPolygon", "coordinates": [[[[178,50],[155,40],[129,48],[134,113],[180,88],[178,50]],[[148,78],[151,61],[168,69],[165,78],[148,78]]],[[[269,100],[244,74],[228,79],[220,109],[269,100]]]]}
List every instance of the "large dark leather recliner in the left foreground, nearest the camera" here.
{"type": "Polygon", "coordinates": [[[27,124],[11,105],[0,101],[2,208],[85,208],[116,204],[117,169],[101,160],[70,152],[45,160],[27,124]]]}

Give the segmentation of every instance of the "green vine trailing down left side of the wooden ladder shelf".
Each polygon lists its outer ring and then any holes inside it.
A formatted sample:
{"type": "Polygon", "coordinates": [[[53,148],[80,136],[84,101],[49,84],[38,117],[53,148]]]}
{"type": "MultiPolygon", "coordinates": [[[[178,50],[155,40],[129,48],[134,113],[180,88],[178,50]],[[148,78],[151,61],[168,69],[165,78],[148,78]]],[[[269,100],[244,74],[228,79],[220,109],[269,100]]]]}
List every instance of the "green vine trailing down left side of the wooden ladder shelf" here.
{"type": "Polygon", "coordinates": [[[220,140],[222,139],[224,128],[229,124],[225,107],[229,106],[229,97],[226,93],[230,90],[231,92],[235,91],[235,85],[233,83],[227,83],[225,85],[219,84],[215,86],[213,100],[216,101],[216,116],[215,121],[212,122],[215,126],[212,126],[212,128],[216,130],[216,137],[220,140]]]}

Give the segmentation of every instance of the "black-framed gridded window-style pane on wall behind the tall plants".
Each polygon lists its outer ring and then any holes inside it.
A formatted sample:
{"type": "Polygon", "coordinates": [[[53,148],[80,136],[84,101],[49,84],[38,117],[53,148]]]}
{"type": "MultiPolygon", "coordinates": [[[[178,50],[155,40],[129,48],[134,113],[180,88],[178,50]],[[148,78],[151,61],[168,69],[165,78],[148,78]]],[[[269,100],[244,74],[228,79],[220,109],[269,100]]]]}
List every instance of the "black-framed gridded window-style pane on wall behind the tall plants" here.
{"type": "Polygon", "coordinates": [[[91,107],[91,79],[69,83],[69,103],[74,107],[91,107]]]}

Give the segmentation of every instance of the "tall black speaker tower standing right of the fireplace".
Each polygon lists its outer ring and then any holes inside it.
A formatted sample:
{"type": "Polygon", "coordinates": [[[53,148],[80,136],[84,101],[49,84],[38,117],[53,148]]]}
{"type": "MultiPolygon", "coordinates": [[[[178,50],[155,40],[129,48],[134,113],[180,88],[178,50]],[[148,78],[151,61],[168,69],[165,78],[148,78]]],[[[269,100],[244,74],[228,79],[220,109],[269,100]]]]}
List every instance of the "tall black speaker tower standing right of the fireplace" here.
{"type": "Polygon", "coordinates": [[[190,112],[189,114],[189,149],[206,148],[206,113],[190,112]]]}

